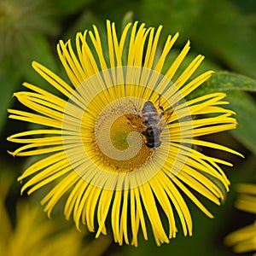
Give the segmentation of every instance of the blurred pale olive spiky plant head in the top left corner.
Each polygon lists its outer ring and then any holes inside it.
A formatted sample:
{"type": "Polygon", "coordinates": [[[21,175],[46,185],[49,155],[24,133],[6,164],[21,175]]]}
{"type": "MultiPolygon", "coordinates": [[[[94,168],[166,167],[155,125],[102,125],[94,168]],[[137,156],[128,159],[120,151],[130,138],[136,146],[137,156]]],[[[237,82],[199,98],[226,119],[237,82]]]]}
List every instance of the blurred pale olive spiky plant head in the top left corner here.
{"type": "Polygon", "coordinates": [[[44,0],[2,0],[0,2],[0,61],[25,61],[35,35],[53,35],[57,24],[44,0]]]}

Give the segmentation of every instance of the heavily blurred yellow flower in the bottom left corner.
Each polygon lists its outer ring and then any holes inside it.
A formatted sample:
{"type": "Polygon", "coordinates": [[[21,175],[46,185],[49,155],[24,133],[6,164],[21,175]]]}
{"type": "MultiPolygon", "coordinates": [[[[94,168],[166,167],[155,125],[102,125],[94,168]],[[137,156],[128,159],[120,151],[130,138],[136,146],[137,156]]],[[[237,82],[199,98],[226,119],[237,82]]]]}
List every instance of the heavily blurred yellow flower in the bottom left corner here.
{"type": "MultiPolygon", "coordinates": [[[[109,237],[104,237],[102,241],[97,241],[99,242],[97,246],[94,241],[84,242],[84,236],[88,236],[88,232],[87,234],[84,232],[81,234],[70,225],[67,226],[67,224],[63,223],[56,225],[55,222],[44,218],[41,207],[32,205],[29,201],[18,201],[15,207],[15,214],[12,212],[10,216],[9,210],[5,207],[10,183],[13,179],[9,174],[9,172],[1,170],[0,255],[101,255],[106,250],[106,247],[111,242],[109,237]]],[[[12,203],[9,201],[8,205],[12,203]]]]}

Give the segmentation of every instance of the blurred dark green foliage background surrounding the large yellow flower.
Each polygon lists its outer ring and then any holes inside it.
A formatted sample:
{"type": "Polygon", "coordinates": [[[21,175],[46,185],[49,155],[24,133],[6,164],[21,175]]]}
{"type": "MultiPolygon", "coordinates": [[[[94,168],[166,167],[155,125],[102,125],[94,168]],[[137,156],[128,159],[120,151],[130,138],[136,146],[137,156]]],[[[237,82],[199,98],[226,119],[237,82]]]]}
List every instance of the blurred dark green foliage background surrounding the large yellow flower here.
{"type": "MultiPolygon", "coordinates": [[[[147,26],[161,24],[164,29],[160,46],[165,43],[168,34],[180,32],[174,50],[181,49],[189,39],[192,47],[187,61],[198,54],[206,55],[200,71],[210,68],[217,73],[193,96],[216,90],[225,91],[230,101],[229,108],[236,111],[239,123],[236,131],[207,138],[236,148],[246,159],[230,154],[217,155],[234,164],[232,168],[224,167],[231,181],[230,193],[222,207],[201,199],[215,216],[214,219],[207,218],[188,201],[194,221],[194,236],[183,237],[177,221],[180,231],[168,245],[157,247],[153,236],[149,236],[149,241],[140,237],[139,247],[112,244],[106,249],[105,255],[235,255],[230,248],[224,247],[224,236],[252,223],[254,219],[253,215],[239,212],[233,207],[236,183],[252,182],[256,173],[254,0],[0,0],[0,177],[1,184],[6,175],[11,180],[6,195],[2,196],[2,207],[9,214],[12,229],[15,229],[17,222],[16,204],[28,201],[38,205],[42,199],[40,192],[29,198],[21,197],[20,184],[16,182],[16,178],[32,160],[13,159],[7,154],[7,150],[14,149],[15,145],[7,143],[6,137],[30,127],[26,123],[7,119],[7,108],[22,108],[12,95],[17,90],[23,90],[23,81],[50,90],[49,84],[32,70],[32,61],[42,63],[65,79],[55,48],[58,40],[74,39],[76,32],[91,29],[93,24],[98,26],[102,38],[106,38],[107,19],[116,23],[119,34],[128,21],[139,20],[147,26]]],[[[209,151],[207,154],[215,152],[209,151]]],[[[59,203],[58,206],[55,218],[64,218],[61,214],[63,205],[59,203]]],[[[41,213],[44,215],[43,209],[41,213]]],[[[0,224],[0,228],[2,232],[4,224],[0,224]]]]}

